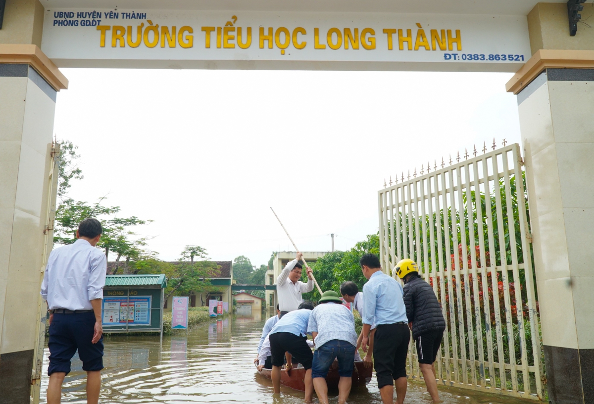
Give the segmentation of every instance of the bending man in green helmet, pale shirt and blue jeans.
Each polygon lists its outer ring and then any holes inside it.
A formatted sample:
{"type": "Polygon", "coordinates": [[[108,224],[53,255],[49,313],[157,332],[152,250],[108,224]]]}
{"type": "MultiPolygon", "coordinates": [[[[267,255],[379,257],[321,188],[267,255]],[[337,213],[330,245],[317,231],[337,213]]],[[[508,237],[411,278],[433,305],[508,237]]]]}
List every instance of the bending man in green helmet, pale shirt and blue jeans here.
{"type": "Polygon", "coordinates": [[[355,318],[342,304],[338,293],[326,291],[309,316],[308,333],[314,339],[315,352],[311,367],[315,394],[321,404],[328,404],[328,370],[338,359],[338,402],[345,404],[352,383],[357,333],[355,318]]]}

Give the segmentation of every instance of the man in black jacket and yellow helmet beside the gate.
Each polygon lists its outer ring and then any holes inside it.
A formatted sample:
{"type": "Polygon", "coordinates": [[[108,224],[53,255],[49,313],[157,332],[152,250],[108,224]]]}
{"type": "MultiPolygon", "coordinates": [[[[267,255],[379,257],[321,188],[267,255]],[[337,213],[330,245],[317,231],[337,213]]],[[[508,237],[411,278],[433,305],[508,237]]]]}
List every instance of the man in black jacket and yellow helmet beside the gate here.
{"type": "Polygon", "coordinates": [[[423,373],[427,392],[434,403],[440,402],[435,375],[435,358],[439,352],[445,330],[441,304],[433,288],[419,276],[419,269],[412,260],[401,260],[394,271],[405,282],[403,299],[406,317],[415,340],[419,368],[423,373]]]}

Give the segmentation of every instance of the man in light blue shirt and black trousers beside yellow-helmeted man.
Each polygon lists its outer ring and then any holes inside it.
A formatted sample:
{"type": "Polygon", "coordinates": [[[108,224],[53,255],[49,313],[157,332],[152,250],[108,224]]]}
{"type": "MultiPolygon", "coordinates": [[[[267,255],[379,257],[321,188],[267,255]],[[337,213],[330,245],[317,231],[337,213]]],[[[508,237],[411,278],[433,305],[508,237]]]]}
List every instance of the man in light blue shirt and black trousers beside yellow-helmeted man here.
{"type": "Polygon", "coordinates": [[[361,257],[363,286],[363,340],[367,345],[371,324],[375,324],[373,358],[375,374],[384,404],[402,404],[406,396],[406,355],[410,341],[406,306],[400,283],[381,270],[375,254],[361,257]],[[393,381],[394,380],[394,381],[393,381]]]}

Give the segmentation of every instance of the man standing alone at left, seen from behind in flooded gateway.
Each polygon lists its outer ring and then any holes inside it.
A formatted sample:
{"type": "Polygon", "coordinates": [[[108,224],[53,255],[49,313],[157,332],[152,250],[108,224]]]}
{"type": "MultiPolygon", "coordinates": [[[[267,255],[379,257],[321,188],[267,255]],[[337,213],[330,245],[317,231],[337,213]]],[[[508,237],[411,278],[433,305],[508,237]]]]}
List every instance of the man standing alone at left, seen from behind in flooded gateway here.
{"type": "Polygon", "coordinates": [[[41,295],[49,311],[48,404],[59,404],[70,359],[78,350],[87,372],[87,403],[97,404],[103,369],[101,303],[107,258],[95,246],[103,232],[97,219],[78,225],[77,241],[49,255],[41,295]]]}

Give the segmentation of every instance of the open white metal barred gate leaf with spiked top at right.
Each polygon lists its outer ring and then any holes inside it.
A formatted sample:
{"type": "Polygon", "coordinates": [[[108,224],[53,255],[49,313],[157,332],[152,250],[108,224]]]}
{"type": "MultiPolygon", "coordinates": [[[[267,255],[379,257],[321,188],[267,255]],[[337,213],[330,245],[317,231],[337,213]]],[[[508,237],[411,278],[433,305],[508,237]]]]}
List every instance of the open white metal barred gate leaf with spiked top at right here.
{"type": "MultiPolygon", "coordinates": [[[[442,304],[438,383],[542,400],[520,147],[473,154],[378,192],[382,265],[415,260],[442,304]]],[[[408,361],[409,377],[422,378],[412,342],[408,361]]]]}

